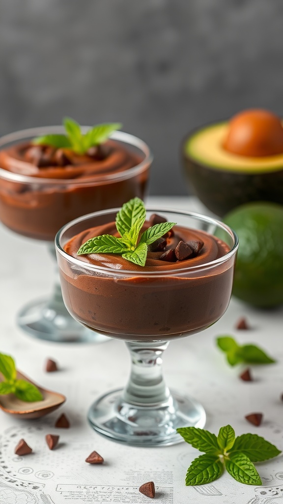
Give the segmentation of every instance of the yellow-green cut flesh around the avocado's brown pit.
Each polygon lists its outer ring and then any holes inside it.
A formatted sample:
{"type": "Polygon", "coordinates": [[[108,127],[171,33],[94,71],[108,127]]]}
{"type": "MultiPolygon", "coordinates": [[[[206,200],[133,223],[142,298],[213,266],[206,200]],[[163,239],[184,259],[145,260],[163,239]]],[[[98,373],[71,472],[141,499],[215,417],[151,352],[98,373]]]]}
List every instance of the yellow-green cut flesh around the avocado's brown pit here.
{"type": "Polygon", "coordinates": [[[210,125],[189,137],[184,154],[190,159],[218,170],[240,173],[262,173],[283,169],[283,154],[264,157],[237,156],[223,149],[228,122],[210,125]]]}

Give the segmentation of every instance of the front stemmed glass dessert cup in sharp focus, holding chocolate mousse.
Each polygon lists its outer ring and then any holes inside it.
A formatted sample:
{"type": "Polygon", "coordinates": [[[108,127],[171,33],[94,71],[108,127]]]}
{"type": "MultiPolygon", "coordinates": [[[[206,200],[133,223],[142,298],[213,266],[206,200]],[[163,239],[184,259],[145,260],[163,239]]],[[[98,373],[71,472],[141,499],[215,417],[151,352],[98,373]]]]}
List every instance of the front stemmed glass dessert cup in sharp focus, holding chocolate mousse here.
{"type": "Polygon", "coordinates": [[[156,212],[196,233],[204,231],[210,242],[224,242],[225,255],[193,267],[182,267],[180,262],[180,266],[174,263],[175,269],[133,271],[129,266],[126,271],[111,263],[96,266],[82,260],[84,256],[65,252],[74,236],[114,221],[117,209],[76,219],[55,238],[67,309],[84,326],[124,340],[131,355],[125,389],[98,398],[89,421],[117,442],[147,447],[180,443],[177,427],[205,424],[204,409],[197,401],[169,391],[162,354],[170,340],[202,331],[222,317],[230,301],[238,248],[235,233],[215,219],[165,209],[149,209],[147,215],[156,212]]]}

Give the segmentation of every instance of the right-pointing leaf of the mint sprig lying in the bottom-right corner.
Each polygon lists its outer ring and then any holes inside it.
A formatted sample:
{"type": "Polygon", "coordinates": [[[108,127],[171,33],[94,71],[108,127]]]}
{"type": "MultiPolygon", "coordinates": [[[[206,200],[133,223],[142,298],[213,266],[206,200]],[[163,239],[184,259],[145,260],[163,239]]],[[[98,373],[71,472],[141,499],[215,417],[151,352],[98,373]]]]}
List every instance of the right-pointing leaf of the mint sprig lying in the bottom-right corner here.
{"type": "Polygon", "coordinates": [[[242,434],[236,437],[231,454],[241,452],[252,462],[262,462],[272,459],[281,452],[274,445],[271,445],[264,437],[257,434],[242,434]]]}

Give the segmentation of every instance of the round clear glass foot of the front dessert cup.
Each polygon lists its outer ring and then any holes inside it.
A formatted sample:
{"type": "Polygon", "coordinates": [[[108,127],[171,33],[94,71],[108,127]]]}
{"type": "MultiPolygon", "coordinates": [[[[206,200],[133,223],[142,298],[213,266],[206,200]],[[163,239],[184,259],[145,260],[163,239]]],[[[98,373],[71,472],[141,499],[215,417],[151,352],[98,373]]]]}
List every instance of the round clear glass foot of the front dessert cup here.
{"type": "Polygon", "coordinates": [[[168,446],[183,442],[178,427],[205,425],[203,407],[194,399],[174,392],[158,405],[132,405],[123,400],[122,389],[101,396],[90,408],[92,427],[118,443],[132,446],[168,446]]]}

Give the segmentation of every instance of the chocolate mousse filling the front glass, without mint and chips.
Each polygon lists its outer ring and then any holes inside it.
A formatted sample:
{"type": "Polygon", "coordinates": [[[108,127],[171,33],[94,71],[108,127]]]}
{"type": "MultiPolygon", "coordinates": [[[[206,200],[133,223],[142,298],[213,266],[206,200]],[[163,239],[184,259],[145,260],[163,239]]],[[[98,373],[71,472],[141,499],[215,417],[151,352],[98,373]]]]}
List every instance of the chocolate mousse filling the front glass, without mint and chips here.
{"type": "Polygon", "coordinates": [[[195,257],[171,262],[161,259],[164,251],[153,251],[146,266],[140,267],[114,254],[77,256],[89,238],[114,230],[114,223],[88,229],[65,244],[65,251],[80,260],[81,268],[59,258],[64,302],[79,322],[116,338],[158,341],[198,332],[222,316],[230,300],[234,260],[204,265],[224,257],[229,251],[226,243],[203,231],[174,226],[165,253],[180,240],[199,240],[203,246],[195,257]],[[105,269],[92,272],[86,264],[105,269]],[[201,265],[199,270],[188,270],[201,265]],[[123,275],[124,270],[132,275],[123,275]]]}

